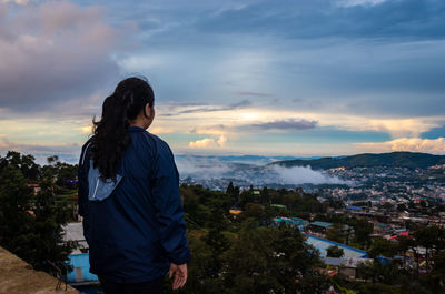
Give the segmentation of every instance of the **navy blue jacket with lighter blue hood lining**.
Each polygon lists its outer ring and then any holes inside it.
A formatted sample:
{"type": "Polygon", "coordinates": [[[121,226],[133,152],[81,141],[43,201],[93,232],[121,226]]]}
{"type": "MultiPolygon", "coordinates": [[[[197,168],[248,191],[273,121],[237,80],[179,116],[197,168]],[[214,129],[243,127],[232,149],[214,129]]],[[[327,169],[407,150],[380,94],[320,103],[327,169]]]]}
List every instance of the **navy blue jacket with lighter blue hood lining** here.
{"type": "Polygon", "coordinates": [[[89,244],[90,272],[118,283],[148,282],[169,264],[190,260],[179,174],[168,144],[129,126],[131,144],[117,166],[117,181],[99,179],[91,140],[79,160],[79,214],[89,244]]]}

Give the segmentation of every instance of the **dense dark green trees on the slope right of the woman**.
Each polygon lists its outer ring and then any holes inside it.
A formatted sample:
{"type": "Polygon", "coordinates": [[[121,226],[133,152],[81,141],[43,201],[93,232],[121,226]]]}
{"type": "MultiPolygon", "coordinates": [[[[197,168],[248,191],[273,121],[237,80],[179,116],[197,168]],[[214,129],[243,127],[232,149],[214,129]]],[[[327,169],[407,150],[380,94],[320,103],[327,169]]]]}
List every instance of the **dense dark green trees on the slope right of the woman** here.
{"type": "MultiPolygon", "coordinates": [[[[273,288],[274,293],[317,293],[328,285],[335,286],[338,293],[445,291],[445,230],[438,226],[406,223],[413,236],[400,236],[395,243],[372,239],[373,224],[367,220],[327,213],[329,209],[343,209],[342,201],[320,203],[301,191],[251,187],[239,192],[230,184],[226,193],[221,193],[199,185],[182,185],[181,195],[192,252],[189,282],[184,293],[268,293],[267,288],[273,288]],[[287,210],[270,203],[284,204],[287,210]],[[233,205],[244,212],[236,217],[230,215],[228,210],[233,205]],[[320,271],[325,265],[315,251],[301,242],[304,236],[298,230],[283,223],[278,227],[270,225],[277,215],[332,222],[334,226],[327,231],[327,239],[366,250],[373,262],[358,266],[358,280],[349,281],[342,275],[327,278],[320,271]],[[419,246],[427,251],[424,265],[419,262],[419,246]],[[400,257],[407,251],[413,251],[415,257],[409,266],[407,258],[400,257]],[[296,254],[295,260],[289,258],[291,254],[296,254]],[[293,270],[286,274],[284,268],[293,270]],[[303,278],[298,278],[301,284],[284,280],[291,273],[294,277],[301,274],[303,278]]],[[[367,202],[356,204],[368,205],[367,202]]],[[[332,246],[327,255],[340,257],[344,252],[332,246]]],[[[166,292],[170,293],[167,285],[166,292]]]]}

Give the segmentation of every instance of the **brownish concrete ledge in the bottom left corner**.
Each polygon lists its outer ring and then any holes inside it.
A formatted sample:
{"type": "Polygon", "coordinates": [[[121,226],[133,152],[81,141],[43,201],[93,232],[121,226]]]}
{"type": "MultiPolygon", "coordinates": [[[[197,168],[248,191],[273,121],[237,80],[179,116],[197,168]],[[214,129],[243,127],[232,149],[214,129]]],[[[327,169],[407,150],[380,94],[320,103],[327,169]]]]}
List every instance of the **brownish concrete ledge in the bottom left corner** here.
{"type": "Polygon", "coordinates": [[[31,265],[0,247],[1,294],[79,294],[79,291],[70,286],[65,291],[65,284],[56,290],[57,283],[57,278],[32,270],[31,265]]]}

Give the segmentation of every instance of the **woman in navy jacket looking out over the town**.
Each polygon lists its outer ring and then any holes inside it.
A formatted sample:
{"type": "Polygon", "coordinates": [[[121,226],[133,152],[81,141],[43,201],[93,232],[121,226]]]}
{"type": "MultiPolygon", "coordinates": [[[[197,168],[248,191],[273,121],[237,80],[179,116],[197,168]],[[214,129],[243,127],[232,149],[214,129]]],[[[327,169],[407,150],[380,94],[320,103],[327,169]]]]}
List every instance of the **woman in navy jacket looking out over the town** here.
{"type": "Polygon", "coordinates": [[[90,272],[106,294],[161,293],[187,281],[179,174],[168,144],[146,131],[155,118],[147,81],[128,78],[106,98],[79,160],[79,213],[90,272]]]}

